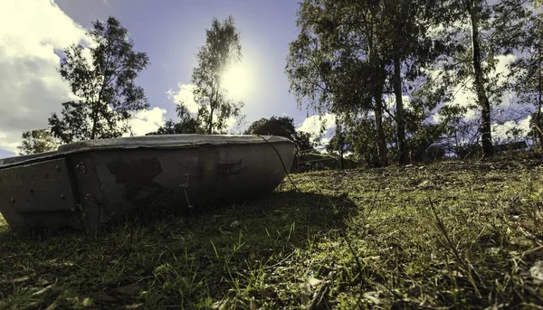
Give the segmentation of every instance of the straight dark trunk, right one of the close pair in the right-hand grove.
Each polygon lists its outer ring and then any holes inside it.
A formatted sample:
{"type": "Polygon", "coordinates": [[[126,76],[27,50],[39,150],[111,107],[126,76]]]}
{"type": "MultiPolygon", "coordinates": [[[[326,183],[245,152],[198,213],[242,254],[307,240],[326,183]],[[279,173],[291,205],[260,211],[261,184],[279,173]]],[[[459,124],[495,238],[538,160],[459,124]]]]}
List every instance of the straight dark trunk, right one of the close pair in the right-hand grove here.
{"type": "Polygon", "coordinates": [[[409,164],[409,157],[405,147],[405,119],[404,119],[404,101],[402,99],[402,63],[396,54],[394,57],[394,93],[396,99],[396,125],[398,139],[398,162],[399,164],[409,164]]]}

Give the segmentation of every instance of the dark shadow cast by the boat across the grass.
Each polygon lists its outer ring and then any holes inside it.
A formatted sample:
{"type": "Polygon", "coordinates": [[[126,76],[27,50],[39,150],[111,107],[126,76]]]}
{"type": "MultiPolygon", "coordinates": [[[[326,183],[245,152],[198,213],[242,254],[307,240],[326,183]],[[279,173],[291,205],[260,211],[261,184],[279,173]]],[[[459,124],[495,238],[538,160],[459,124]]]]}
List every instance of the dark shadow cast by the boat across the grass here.
{"type": "Polygon", "coordinates": [[[354,208],[342,197],[280,192],[188,216],[129,220],[95,236],[0,231],[0,300],[11,307],[77,308],[87,297],[100,306],[209,306],[250,287],[248,273],[343,230],[354,208]],[[47,294],[35,294],[44,287],[47,294]]]}

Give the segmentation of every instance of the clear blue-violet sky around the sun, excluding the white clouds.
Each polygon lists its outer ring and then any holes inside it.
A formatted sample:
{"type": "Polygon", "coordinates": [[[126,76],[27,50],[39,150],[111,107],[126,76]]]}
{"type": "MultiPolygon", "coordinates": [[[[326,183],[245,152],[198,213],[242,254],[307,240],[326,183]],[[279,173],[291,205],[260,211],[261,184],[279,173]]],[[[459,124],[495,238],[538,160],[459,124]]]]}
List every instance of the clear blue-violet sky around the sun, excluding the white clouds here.
{"type": "MultiPolygon", "coordinates": [[[[196,65],[195,52],[205,42],[205,28],[214,17],[232,14],[242,33],[243,61],[253,71],[256,91],[247,98],[248,120],[272,114],[301,117],[289,95],[284,74],[289,42],[297,35],[297,3],[292,0],[57,0],[77,23],[90,27],[96,19],[113,15],[129,29],[137,51],[148,52],[150,66],[138,79],[152,106],[167,108],[175,116],[167,90],[189,84],[196,65]]],[[[302,120],[302,119],[301,119],[302,120]]]]}

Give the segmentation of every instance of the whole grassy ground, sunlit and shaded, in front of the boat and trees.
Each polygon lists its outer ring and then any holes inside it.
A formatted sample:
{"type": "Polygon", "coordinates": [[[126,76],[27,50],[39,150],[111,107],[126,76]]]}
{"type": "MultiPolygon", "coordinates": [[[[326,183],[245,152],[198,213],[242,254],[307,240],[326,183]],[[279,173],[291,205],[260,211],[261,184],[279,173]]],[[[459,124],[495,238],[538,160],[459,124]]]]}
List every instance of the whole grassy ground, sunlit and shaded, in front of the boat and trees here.
{"type": "Polygon", "coordinates": [[[4,224],[0,309],[543,309],[541,158],[297,174],[98,236],[4,224]]]}

